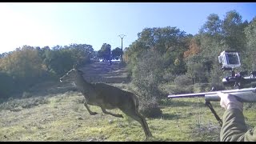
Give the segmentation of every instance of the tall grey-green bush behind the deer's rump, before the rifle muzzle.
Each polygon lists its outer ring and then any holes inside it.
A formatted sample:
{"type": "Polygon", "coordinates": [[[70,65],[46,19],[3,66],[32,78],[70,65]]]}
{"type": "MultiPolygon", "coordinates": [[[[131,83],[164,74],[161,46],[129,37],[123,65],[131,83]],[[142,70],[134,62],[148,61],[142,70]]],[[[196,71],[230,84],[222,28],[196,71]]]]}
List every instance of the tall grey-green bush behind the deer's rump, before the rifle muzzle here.
{"type": "Polygon", "coordinates": [[[158,86],[162,83],[163,58],[156,51],[148,50],[139,58],[132,75],[132,83],[143,98],[162,98],[165,96],[158,86]]]}

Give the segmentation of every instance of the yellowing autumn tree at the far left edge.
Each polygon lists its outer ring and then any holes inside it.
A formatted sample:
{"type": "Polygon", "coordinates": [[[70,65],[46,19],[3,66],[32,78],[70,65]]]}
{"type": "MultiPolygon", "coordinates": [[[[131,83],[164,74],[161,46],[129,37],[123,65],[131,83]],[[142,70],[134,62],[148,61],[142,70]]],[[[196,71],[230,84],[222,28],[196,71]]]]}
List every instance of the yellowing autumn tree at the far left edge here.
{"type": "Polygon", "coordinates": [[[14,84],[11,87],[12,92],[18,92],[33,86],[35,82],[40,82],[46,70],[42,66],[38,49],[22,46],[1,59],[0,71],[9,79],[9,84],[14,84]]]}

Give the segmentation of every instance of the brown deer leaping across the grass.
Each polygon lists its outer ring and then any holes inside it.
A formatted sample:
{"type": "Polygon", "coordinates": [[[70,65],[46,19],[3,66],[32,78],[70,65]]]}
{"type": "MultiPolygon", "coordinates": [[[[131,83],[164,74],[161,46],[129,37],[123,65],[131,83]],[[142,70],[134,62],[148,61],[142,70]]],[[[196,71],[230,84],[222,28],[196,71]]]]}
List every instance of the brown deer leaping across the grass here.
{"type": "Polygon", "coordinates": [[[144,130],[146,139],[153,137],[146,118],[139,114],[139,101],[135,94],[121,90],[118,87],[110,86],[105,83],[90,83],[83,78],[83,71],[78,68],[73,68],[60,78],[60,82],[73,82],[76,89],[82,93],[86,99],[84,106],[90,115],[98,114],[90,110],[88,105],[99,106],[104,114],[110,114],[114,117],[123,118],[122,114],[114,114],[107,110],[118,108],[124,114],[128,115],[139,122],[144,130]]]}

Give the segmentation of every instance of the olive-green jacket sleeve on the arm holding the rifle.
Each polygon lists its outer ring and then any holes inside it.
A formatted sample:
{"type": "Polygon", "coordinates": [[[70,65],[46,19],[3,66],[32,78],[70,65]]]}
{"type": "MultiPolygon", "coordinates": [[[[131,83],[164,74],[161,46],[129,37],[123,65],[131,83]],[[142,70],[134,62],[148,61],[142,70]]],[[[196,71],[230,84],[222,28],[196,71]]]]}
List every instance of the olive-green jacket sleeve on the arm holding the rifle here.
{"type": "Polygon", "coordinates": [[[247,131],[245,118],[241,110],[226,110],[222,118],[223,124],[220,133],[222,142],[244,141],[247,131]]]}

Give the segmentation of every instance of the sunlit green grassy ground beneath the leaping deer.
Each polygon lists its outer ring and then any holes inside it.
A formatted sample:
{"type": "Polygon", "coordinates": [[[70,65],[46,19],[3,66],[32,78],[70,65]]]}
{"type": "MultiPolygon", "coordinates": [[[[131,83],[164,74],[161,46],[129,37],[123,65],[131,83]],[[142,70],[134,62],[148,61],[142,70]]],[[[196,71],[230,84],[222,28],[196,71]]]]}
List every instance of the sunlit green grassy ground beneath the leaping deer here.
{"type": "MultiPolygon", "coordinates": [[[[125,83],[112,84],[127,90],[125,83]]],[[[14,99],[0,104],[0,141],[144,141],[140,124],[122,114],[116,118],[98,112],[91,116],[83,106],[82,94],[67,90],[30,98],[14,99]]],[[[212,102],[218,115],[224,110],[212,102]]],[[[219,141],[217,120],[204,105],[204,98],[166,99],[160,103],[161,118],[146,118],[154,138],[150,141],[219,141]]],[[[256,126],[254,104],[244,106],[248,126],[256,126]]]]}

